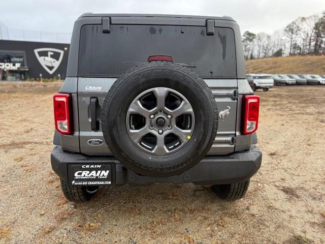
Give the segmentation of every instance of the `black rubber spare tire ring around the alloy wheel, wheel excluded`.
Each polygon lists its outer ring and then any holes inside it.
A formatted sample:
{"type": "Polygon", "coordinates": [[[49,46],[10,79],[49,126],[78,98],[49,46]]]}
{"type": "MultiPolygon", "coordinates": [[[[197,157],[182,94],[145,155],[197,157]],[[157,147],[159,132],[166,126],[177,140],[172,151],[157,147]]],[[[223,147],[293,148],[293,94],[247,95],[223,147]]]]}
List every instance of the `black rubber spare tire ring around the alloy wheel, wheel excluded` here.
{"type": "Polygon", "coordinates": [[[171,62],[136,66],[118,78],[109,90],[102,109],[102,130],[112,154],[126,168],[140,175],[178,175],[196,165],[211,148],[218,127],[216,102],[206,82],[190,69],[171,62]],[[168,87],[191,104],[195,125],[190,139],[174,153],[154,155],[139,148],[129,137],[126,114],[142,92],[168,87]]]}

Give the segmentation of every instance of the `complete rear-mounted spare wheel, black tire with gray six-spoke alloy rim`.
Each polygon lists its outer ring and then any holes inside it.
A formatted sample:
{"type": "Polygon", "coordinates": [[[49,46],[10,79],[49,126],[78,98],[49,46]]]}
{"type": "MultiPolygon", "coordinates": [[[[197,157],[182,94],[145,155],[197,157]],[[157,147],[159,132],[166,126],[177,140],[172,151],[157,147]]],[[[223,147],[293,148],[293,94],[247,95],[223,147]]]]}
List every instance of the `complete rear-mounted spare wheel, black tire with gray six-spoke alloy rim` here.
{"type": "Polygon", "coordinates": [[[210,88],[182,64],[151,62],[118,78],[102,109],[112,154],[140,175],[181,174],[211,148],[218,127],[210,88]]]}

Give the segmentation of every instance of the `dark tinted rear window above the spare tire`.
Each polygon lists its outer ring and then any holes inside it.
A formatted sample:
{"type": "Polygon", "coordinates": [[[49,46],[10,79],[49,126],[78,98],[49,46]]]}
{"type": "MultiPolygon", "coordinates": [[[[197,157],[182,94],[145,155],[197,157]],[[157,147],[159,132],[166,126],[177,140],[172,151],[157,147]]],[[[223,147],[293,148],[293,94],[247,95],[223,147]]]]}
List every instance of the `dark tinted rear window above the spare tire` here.
{"type": "Polygon", "coordinates": [[[84,25],[79,45],[79,76],[118,77],[146,63],[151,55],[169,55],[204,78],[236,77],[234,32],[215,27],[213,36],[205,26],[84,25]]]}

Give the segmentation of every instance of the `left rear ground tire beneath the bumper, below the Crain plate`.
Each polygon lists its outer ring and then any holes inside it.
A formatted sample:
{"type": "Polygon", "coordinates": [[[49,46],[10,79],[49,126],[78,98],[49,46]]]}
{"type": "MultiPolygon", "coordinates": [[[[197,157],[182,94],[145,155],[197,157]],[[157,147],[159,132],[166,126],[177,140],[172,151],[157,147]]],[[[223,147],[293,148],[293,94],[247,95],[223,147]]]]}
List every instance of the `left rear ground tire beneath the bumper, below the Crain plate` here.
{"type": "Polygon", "coordinates": [[[96,194],[98,187],[71,187],[61,180],[61,189],[69,201],[86,202],[96,194]]]}

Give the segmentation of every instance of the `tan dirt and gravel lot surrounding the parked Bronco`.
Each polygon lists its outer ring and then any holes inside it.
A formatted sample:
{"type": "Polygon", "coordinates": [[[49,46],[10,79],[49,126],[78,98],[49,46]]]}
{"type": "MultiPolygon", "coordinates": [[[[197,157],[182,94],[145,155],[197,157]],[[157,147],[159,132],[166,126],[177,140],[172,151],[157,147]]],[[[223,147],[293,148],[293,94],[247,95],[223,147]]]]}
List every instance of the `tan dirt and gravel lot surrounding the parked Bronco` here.
{"type": "Polygon", "coordinates": [[[1,243],[325,243],[325,86],[261,96],[261,169],[244,199],[154,184],[68,202],[50,166],[60,83],[0,83],[1,243]]]}

